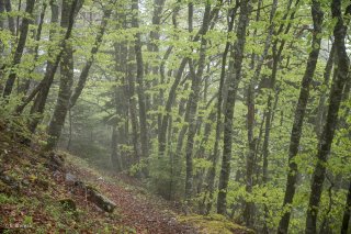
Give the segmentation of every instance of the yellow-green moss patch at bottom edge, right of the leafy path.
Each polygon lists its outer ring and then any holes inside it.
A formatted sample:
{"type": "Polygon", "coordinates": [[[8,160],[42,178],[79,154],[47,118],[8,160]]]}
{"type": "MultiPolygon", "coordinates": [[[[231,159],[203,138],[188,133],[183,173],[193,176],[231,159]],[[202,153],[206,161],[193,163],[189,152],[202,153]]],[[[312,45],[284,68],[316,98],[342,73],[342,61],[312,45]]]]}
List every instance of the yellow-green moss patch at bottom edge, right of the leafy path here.
{"type": "Polygon", "coordinates": [[[233,223],[225,216],[220,214],[211,214],[207,216],[203,215],[189,215],[179,216],[178,220],[183,223],[190,223],[197,227],[201,233],[220,233],[220,234],[231,234],[231,233],[254,233],[245,226],[233,223]]]}

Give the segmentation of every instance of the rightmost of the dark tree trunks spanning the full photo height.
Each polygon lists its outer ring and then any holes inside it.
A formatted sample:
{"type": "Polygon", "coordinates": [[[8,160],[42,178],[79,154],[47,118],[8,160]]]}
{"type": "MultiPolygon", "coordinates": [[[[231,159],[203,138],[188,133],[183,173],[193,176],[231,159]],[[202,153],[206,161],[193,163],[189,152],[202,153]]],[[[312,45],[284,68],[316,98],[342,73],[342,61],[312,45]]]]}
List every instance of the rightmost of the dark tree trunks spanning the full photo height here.
{"type": "MultiPolygon", "coordinates": [[[[351,10],[351,8],[349,8],[351,10]]],[[[350,12],[348,12],[350,14],[350,12]]],[[[322,183],[326,177],[326,164],[328,155],[330,154],[331,143],[335,136],[335,130],[338,124],[338,112],[340,109],[340,102],[342,99],[342,90],[347,82],[350,60],[347,54],[344,44],[347,26],[344,25],[341,13],[341,0],[333,0],[331,3],[331,15],[337,20],[337,24],[333,30],[336,56],[337,62],[337,75],[332,80],[332,86],[329,97],[328,114],[326,124],[318,143],[317,164],[313,174],[313,180],[310,186],[310,196],[307,209],[306,218],[306,234],[315,234],[317,231],[317,215],[319,210],[319,202],[322,191],[322,183]]]]}

